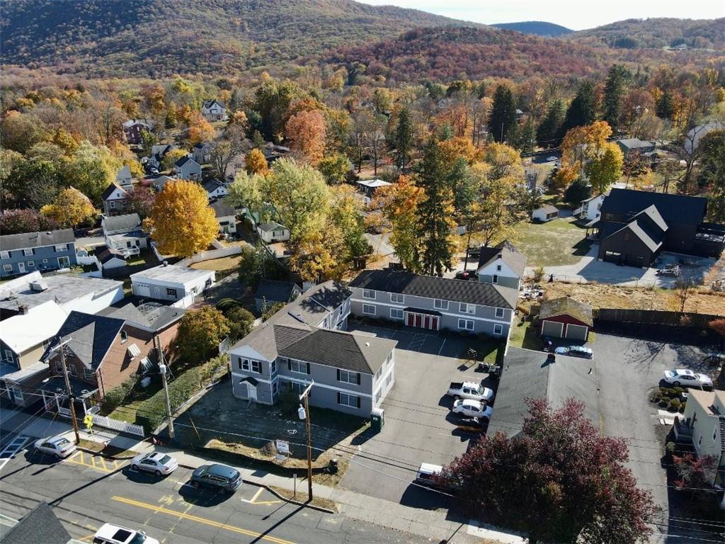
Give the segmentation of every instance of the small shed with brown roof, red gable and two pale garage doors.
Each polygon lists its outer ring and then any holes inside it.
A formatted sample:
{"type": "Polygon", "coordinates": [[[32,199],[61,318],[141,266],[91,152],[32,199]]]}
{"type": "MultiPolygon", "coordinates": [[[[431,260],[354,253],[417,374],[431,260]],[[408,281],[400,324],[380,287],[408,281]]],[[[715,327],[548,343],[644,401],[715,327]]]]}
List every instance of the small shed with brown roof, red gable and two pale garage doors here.
{"type": "Polygon", "coordinates": [[[542,336],[587,342],[594,326],[592,307],[571,297],[544,300],[539,310],[542,336]]]}

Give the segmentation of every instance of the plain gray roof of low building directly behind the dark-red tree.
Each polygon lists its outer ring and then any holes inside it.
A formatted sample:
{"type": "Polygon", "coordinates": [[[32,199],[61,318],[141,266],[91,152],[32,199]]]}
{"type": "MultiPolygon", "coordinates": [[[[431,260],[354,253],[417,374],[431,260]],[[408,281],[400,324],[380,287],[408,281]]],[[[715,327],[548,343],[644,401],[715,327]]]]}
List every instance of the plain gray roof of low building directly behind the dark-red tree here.
{"type": "Polygon", "coordinates": [[[501,381],[487,434],[503,432],[513,437],[521,432],[528,415],[526,399],[548,399],[560,408],[567,398],[584,402],[584,415],[597,424],[599,420],[598,378],[594,360],[557,355],[547,363],[547,353],[510,347],[503,360],[501,381]],[[589,369],[592,369],[591,374],[589,369]]]}

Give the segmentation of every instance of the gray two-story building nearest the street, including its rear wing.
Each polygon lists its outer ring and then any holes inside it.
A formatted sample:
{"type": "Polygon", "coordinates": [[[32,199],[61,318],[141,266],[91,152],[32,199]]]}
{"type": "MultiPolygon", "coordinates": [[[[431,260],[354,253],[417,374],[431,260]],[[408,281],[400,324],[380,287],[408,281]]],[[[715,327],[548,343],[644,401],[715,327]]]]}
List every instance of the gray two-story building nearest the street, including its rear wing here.
{"type": "Polygon", "coordinates": [[[233,395],[274,404],[312,383],[311,405],[368,417],[394,383],[396,342],[344,331],[350,294],[333,281],[320,284],[237,342],[233,395]]]}

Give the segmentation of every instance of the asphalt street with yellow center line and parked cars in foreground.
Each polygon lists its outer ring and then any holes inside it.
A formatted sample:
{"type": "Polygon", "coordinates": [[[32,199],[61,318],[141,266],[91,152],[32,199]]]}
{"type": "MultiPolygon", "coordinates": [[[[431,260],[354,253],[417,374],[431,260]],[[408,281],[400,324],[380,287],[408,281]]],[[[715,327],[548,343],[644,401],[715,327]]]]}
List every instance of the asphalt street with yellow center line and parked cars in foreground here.
{"type": "Polygon", "coordinates": [[[0,511],[20,519],[48,502],[70,535],[90,540],[106,522],[144,530],[161,543],[418,543],[413,535],[325,514],[242,485],[233,495],[187,485],[191,471],[166,478],[128,461],[78,452],[65,461],[23,450],[0,472],[0,511]]]}

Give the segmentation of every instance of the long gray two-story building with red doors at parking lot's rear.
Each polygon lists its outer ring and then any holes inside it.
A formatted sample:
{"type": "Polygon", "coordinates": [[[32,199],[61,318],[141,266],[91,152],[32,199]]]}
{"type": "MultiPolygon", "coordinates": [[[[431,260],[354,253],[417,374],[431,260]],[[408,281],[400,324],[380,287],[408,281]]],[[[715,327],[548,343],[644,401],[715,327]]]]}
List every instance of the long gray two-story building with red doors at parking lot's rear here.
{"type": "Polygon", "coordinates": [[[392,270],[365,270],[348,288],[354,316],[503,338],[508,338],[518,300],[511,287],[392,270]]]}

